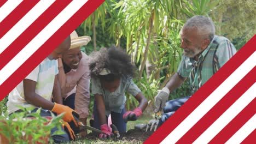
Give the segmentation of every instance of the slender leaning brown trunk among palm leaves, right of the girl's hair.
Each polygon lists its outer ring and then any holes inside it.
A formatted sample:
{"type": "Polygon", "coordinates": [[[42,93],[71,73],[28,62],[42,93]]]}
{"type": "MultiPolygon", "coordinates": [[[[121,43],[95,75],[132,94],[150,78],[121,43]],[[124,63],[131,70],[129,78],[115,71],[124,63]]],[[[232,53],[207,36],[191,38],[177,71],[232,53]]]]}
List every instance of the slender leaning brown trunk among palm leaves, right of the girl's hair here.
{"type": "Polygon", "coordinates": [[[148,49],[149,49],[150,39],[151,39],[151,34],[152,34],[152,29],[153,29],[153,20],[154,20],[154,12],[152,13],[152,15],[149,19],[147,46],[144,51],[144,57],[143,57],[143,61],[141,63],[141,69],[139,70],[139,79],[142,77],[143,70],[144,70],[144,67],[145,67],[145,64],[147,61],[147,57],[148,57],[148,49]]]}

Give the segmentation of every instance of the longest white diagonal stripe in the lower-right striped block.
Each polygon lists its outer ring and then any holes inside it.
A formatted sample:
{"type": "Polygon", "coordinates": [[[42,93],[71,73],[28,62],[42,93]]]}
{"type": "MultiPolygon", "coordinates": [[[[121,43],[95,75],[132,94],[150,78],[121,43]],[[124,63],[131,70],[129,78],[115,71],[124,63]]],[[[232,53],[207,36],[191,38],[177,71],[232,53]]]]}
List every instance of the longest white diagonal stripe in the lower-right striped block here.
{"type": "Polygon", "coordinates": [[[184,119],[161,143],[176,143],[195,125],[232,87],[255,67],[256,52],[243,62],[220,86],[214,90],[190,115],[184,119]]]}

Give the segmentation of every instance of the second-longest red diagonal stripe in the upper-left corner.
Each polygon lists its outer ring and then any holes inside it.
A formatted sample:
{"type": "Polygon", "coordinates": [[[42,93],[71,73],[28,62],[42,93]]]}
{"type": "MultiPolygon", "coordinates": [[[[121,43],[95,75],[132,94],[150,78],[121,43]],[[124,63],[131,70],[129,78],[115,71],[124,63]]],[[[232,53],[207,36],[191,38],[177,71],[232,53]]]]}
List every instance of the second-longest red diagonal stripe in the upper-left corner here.
{"type": "Polygon", "coordinates": [[[0,54],[0,70],[28,43],[30,43],[30,41],[71,2],[71,0],[55,1],[48,9],[46,9],[36,21],[34,21],[13,43],[7,47],[7,49],[0,54]]]}

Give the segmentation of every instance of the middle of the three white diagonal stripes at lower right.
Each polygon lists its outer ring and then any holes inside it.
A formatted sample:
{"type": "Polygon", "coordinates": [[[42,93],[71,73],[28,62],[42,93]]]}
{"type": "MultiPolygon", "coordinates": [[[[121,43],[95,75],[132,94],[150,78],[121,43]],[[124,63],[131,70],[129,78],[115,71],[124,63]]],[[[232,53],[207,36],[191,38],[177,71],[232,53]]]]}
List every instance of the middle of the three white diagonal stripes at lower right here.
{"type": "MultiPolygon", "coordinates": [[[[206,131],[204,131],[193,143],[208,143],[220,130],[222,130],[233,118],[238,115],[255,97],[256,83],[249,88],[239,99],[226,110],[206,131]]],[[[256,124],[255,124],[256,125],[256,124]]]]}

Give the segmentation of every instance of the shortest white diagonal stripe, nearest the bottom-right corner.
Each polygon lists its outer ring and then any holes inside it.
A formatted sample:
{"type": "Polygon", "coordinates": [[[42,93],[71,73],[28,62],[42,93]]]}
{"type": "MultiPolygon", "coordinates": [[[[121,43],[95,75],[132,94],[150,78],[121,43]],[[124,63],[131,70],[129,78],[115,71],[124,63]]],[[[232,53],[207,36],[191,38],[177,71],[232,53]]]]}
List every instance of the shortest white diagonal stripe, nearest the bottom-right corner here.
{"type": "Polygon", "coordinates": [[[256,129],[256,114],[246,122],[242,128],[240,128],[236,133],[226,141],[226,144],[241,143],[246,137],[256,129]]]}

